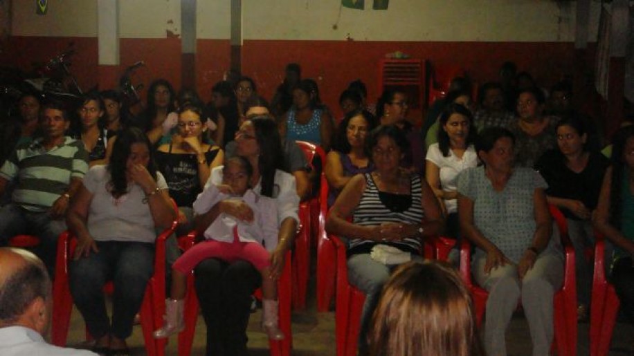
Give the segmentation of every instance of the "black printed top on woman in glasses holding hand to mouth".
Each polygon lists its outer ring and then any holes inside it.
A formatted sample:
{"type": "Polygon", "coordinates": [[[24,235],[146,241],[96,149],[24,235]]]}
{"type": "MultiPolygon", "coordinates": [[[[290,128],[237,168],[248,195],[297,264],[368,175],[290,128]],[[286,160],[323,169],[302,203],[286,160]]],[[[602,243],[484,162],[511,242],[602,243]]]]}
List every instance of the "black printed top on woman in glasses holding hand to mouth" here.
{"type": "MultiPolygon", "coordinates": [[[[211,149],[205,153],[207,164],[212,162],[220,149],[211,149]]],[[[172,153],[156,151],[156,165],[165,177],[170,197],[179,207],[191,207],[198,194],[203,191],[198,178],[198,158],[193,153],[172,153]]]]}

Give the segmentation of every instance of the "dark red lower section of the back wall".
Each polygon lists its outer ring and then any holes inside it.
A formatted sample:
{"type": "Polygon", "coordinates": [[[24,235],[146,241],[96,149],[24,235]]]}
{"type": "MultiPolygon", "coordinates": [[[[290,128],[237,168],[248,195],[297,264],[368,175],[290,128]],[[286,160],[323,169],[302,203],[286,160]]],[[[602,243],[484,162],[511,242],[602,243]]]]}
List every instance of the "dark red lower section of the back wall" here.
{"type": "MultiPolygon", "coordinates": [[[[96,38],[10,37],[0,44],[0,66],[15,66],[30,71],[33,63],[46,62],[73,44],[75,55],[71,71],[82,88],[106,88],[118,82],[126,66],[144,61],[132,77],[134,84],[147,86],[164,77],[178,90],[183,65],[181,41],[165,39],[121,39],[120,66],[98,66],[96,38]]],[[[231,46],[228,40],[199,39],[194,57],[195,86],[203,100],[210,88],[230,68],[231,46]]],[[[564,76],[575,78],[576,90],[592,89],[594,46],[579,53],[572,43],[535,42],[413,42],[413,41],[244,41],[239,55],[242,73],[257,82],[258,91],[270,98],[282,82],[284,66],[298,62],[302,76],[316,79],[323,102],[340,115],[338,96],[347,83],[361,78],[368,86],[368,98],[374,102],[379,93],[379,60],[386,53],[401,51],[413,58],[425,59],[431,66],[460,66],[478,83],[498,78],[498,68],[507,60],[516,62],[520,71],[529,71],[536,81],[549,87],[564,76]],[[588,86],[581,88],[581,85],[588,86]]],[[[187,61],[189,62],[189,60],[187,61]]],[[[189,80],[188,80],[189,82],[189,80]]],[[[579,102],[583,102],[577,97],[579,102]]],[[[419,113],[413,113],[419,115],[419,113]]]]}

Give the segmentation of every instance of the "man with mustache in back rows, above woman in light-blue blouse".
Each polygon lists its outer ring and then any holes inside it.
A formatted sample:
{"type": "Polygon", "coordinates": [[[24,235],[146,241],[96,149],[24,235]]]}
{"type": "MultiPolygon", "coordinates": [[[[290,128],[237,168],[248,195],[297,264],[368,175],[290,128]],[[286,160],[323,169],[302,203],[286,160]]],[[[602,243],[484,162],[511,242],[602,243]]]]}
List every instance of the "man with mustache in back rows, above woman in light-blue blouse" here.
{"type": "Polygon", "coordinates": [[[504,104],[502,84],[482,84],[478,91],[478,110],[473,115],[473,123],[478,131],[485,127],[506,127],[513,118],[514,114],[508,111],[504,104]]]}

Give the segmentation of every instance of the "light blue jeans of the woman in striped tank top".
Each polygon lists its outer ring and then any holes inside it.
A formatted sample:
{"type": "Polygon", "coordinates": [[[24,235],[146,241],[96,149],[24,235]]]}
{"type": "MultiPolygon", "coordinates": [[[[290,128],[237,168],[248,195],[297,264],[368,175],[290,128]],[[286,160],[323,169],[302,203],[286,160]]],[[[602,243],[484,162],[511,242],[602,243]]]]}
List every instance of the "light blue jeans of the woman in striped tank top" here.
{"type": "MultiPolygon", "coordinates": [[[[413,255],[412,259],[420,261],[422,257],[413,255]]],[[[347,260],[347,267],[348,281],[365,294],[359,329],[359,353],[363,354],[368,352],[368,328],[374,309],[379,304],[383,285],[390,279],[390,274],[397,265],[383,265],[370,258],[370,254],[354,254],[347,260]]]]}

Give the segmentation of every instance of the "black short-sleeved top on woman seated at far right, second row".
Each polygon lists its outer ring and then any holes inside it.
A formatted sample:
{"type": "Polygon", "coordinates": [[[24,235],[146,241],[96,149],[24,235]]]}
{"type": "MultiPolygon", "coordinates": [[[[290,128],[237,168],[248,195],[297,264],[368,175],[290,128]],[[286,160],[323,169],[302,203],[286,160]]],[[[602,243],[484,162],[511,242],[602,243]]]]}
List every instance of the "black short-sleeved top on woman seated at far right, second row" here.
{"type": "MultiPolygon", "coordinates": [[[[575,173],[565,165],[563,153],[559,149],[552,149],[539,158],[535,169],[548,183],[547,195],[580,200],[589,210],[594,210],[599,201],[601,182],[609,165],[610,161],[601,153],[590,152],[586,168],[575,173]]],[[[561,209],[561,212],[566,218],[581,220],[568,209],[561,209]]]]}

